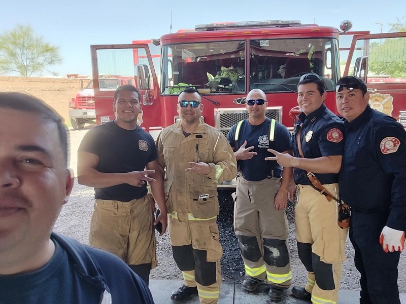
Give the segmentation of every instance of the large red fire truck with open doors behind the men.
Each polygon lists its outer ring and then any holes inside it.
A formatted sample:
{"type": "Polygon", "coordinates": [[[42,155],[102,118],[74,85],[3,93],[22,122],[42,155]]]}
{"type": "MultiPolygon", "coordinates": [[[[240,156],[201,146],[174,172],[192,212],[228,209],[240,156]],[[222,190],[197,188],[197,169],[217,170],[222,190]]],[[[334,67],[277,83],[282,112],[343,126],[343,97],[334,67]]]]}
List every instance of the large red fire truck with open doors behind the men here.
{"type": "MultiPolygon", "coordinates": [[[[341,30],[345,32],[350,27],[351,23],[346,21],[341,30]]],[[[154,41],[161,49],[160,68],[154,62],[148,44],[93,45],[97,123],[114,119],[111,106],[114,90],[99,89],[100,75],[110,73],[134,77],[136,87],[142,92],[141,126],[154,138],[162,128],[180,119],[176,111],[177,95],[185,87],[196,88],[201,93],[205,104],[202,119],[224,134],[233,124],[247,117],[245,96],[254,88],[267,95],[270,106],[266,115],[292,128],[294,121],[289,117],[289,111],[297,105],[295,90],[304,73],[320,75],[327,88],[326,105],[335,111],[334,84],[341,76],[340,65],[344,65],[339,55],[340,34],[333,27],[301,24],[297,20],[197,25],[195,30],[165,34],[154,41]]],[[[376,100],[382,99],[383,109],[389,104],[388,90],[405,94],[406,86],[404,82],[371,82],[366,56],[371,53],[371,46],[375,50],[384,49],[388,39],[402,40],[404,44],[405,36],[406,33],[356,34],[347,54],[345,74],[349,73],[350,66],[355,67],[355,74],[367,80],[371,91],[382,95],[376,95],[376,100]],[[369,44],[367,39],[371,37],[380,40],[380,45],[369,44]],[[358,53],[361,54],[358,56],[358,53]],[[353,62],[353,56],[359,59],[353,62]]],[[[382,61],[381,57],[376,55],[376,60],[382,61]]],[[[404,56],[399,60],[403,60],[399,64],[405,64],[404,56]]],[[[389,75],[388,80],[404,79],[405,70],[403,68],[401,77],[380,70],[375,74],[389,75]]],[[[391,115],[399,119],[399,113],[406,110],[405,96],[398,98],[393,94],[395,110],[391,115]]]]}

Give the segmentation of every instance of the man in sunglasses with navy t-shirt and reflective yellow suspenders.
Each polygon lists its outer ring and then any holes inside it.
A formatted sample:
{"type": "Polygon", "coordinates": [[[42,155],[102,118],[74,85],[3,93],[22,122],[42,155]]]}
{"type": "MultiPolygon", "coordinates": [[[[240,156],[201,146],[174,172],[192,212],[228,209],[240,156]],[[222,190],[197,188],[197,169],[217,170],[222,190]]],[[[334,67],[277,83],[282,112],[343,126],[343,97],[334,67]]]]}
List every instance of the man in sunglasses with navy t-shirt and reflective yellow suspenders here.
{"type": "Polygon", "coordinates": [[[269,298],[279,301],[292,279],[285,208],[293,170],[265,158],[272,156],[268,148],[291,153],[291,136],[284,125],[265,117],[267,105],[263,91],[250,91],[245,104],[248,119],[235,124],[227,139],[239,171],[234,231],[247,275],[242,287],[254,291],[265,280],[269,298]]]}

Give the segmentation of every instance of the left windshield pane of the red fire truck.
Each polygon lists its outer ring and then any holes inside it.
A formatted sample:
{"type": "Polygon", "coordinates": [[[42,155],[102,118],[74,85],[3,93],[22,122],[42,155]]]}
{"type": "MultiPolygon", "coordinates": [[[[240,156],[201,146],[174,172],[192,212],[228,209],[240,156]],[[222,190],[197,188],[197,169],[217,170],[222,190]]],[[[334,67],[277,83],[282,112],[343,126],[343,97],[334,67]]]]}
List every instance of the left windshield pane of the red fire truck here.
{"type": "Polygon", "coordinates": [[[164,95],[179,94],[185,87],[202,94],[245,92],[244,41],[164,46],[161,67],[164,95]]]}

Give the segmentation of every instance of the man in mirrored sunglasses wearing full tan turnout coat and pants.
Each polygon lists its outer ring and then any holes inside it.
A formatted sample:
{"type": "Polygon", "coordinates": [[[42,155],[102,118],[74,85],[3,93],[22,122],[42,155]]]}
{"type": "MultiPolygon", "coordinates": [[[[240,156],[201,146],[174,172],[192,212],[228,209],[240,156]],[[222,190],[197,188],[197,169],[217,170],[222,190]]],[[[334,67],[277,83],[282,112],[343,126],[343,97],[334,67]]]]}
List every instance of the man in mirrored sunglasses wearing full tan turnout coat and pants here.
{"type": "Polygon", "coordinates": [[[236,175],[235,157],[225,136],[201,119],[201,97],[188,88],[178,96],[181,120],[162,130],[156,145],[158,163],[166,168],[168,229],[174,259],[184,283],[171,299],[198,294],[214,304],[220,295],[217,183],[236,175]]]}

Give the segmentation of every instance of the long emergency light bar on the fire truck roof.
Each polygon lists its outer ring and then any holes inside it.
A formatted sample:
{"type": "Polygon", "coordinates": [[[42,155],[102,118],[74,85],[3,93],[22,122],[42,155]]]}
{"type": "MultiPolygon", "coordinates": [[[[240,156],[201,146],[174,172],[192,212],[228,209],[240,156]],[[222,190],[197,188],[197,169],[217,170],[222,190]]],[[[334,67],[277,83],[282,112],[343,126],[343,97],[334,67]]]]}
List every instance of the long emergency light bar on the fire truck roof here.
{"type": "Polygon", "coordinates": [[[301,25],[300,20],[263,20],[263,21],[243,21],[243,22],[223,22],[198,24],[194,27],[196,31],[219,30],[227,28],[247,28],[247,27],[284,27],[301,25]]]}

